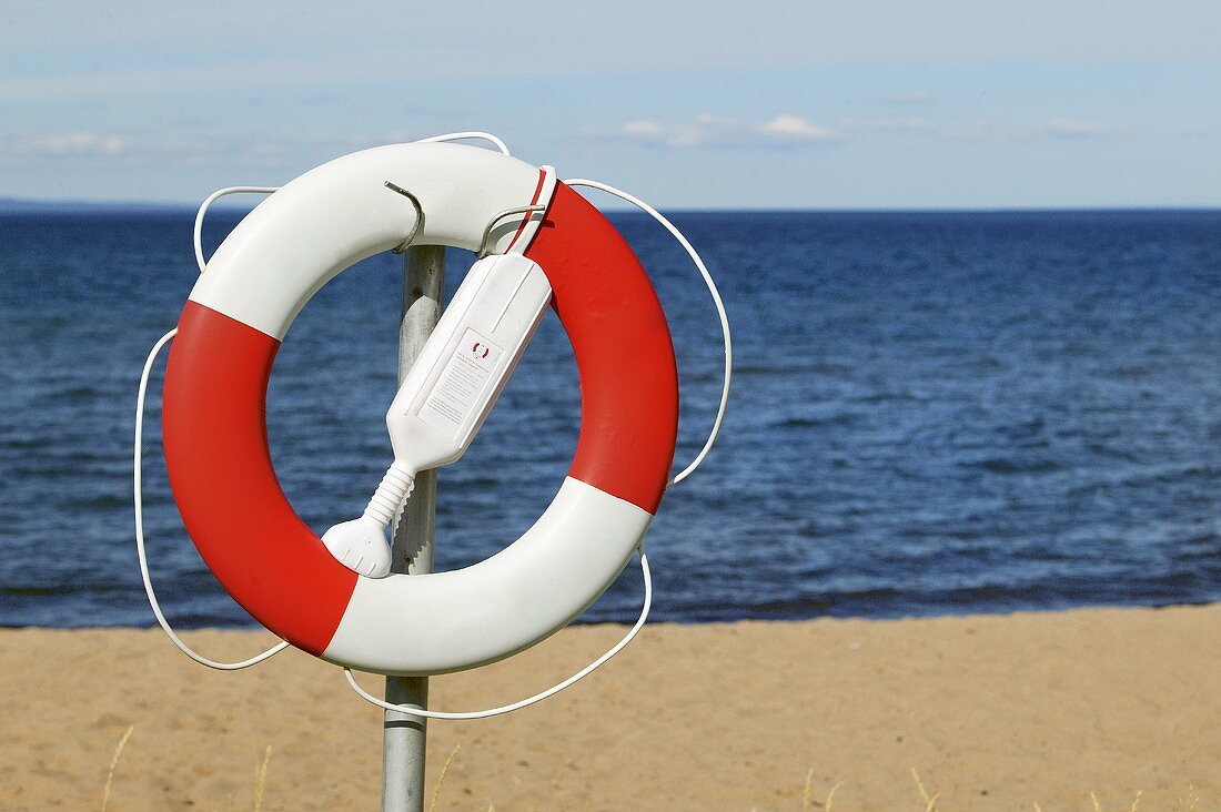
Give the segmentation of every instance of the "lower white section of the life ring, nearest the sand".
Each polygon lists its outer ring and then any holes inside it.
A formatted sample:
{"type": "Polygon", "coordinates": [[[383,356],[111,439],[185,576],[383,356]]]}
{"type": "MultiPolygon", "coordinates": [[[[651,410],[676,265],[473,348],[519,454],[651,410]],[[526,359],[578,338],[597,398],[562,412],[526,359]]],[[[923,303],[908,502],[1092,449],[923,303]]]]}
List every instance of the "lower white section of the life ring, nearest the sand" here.
{"type": "Polygon", "coordinates": [[[534,526],[491,558],[449,573],[359,579],[322,659],[357,670],[443,674],[523,651],[601,595],[652,519],[565,477],[534,526]]]}

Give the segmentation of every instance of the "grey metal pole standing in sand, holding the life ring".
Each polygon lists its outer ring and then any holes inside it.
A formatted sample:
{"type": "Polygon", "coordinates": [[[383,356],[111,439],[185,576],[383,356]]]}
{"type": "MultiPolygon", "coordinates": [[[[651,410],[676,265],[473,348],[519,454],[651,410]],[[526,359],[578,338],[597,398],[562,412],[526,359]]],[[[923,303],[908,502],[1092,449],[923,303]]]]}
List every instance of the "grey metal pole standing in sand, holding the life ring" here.
{"type": "MultiPolygon", "coordinates": [[[[446,285],[446,249],[409,248],[403,264],[403,310],[398,328],[398,381],[403,382],[441,317],[446,285]]],[[[437,473],[420,471],[394,524],[394,573],[432,571],[436,536],[437,473]]],[[[386,701],[419,708],[429,706],[427,676],[387,676],[386,701]]],[[[386,711],[382,723],[382,810],[422,812],[426,719],[386,711]]]]}

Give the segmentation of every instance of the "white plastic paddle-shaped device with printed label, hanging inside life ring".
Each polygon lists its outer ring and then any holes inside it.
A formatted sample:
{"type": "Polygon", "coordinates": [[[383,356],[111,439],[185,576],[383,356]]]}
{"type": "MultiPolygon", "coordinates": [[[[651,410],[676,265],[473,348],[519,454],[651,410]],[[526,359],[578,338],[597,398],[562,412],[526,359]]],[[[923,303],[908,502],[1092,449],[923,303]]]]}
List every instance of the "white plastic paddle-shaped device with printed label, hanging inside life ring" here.
{"type": "Polygon", "coordinates": [[[369,578],[389,574],[386,529],[415,475],[466,453],[549,302],[547,276],[520,254],[471,266],[386,414],[394,463],[364,514],[322,535],[341,564],[369,578]]]}

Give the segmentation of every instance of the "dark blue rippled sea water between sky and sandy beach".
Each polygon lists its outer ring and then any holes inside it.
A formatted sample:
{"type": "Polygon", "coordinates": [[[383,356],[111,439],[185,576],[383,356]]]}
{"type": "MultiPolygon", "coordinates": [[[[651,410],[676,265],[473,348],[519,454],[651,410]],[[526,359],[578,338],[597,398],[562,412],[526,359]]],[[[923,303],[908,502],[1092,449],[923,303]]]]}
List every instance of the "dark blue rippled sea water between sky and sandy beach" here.
{"type": "MultiPolygon", "coordinates": [[[[0,215],[2,625],[153,622],[132,541],[134,393],[195,278],[192,214],[0,215]]],[[[217,214],[209,244],[236,219],[217,214]]],[[[718,326],[669,237],[613,219],[669,314],[685,463],[719,391],[718,326]]],[[[1221,212],[674,220],[717,271],[737,371],[720,443],[648,537],[657,619],[1221,600],[1221,212]]],[[[451,254],[451,291],[470,261],[451,254]]],[[[377,256],[327,286],[277,361],[272,453],[316,531],[359,513],[389,462],[399,269],[377,256]]],[[[187,626],[249,624],[170,498],[159,386],[145,499],[162,601],[187,626]]],[[[438,567],[541,513],[579,397],[549,315],[441,474],[438,567]]],[[[628,620],[639,600],[629,568],[586,619],[628,620]]]]}

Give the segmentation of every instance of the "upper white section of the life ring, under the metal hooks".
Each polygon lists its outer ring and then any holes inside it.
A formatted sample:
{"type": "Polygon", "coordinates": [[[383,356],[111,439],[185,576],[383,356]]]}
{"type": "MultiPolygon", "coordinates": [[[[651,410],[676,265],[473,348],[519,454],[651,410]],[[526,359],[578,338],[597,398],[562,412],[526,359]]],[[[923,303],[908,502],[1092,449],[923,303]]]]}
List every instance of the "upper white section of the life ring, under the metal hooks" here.
{"type": "MultiPolygon", "coordinates": [[[[425,219],[418,244],[477,250],[488,220],[530,203],[538,167],[448,143],[393,144],[338,158],[293,179],[242,220],[208,260],[190,300],[283,338],[335,275],[394,248],[411,231],[411,204],[386,189],[386,181],[409,186],[419,198],[425,219]]],[[[505,219],[493,228],[493,253],[508,249],[520,222],[505,219]]]]}

